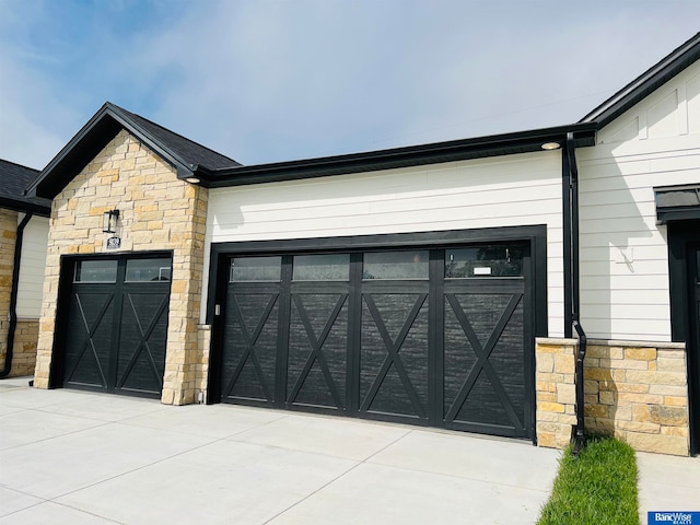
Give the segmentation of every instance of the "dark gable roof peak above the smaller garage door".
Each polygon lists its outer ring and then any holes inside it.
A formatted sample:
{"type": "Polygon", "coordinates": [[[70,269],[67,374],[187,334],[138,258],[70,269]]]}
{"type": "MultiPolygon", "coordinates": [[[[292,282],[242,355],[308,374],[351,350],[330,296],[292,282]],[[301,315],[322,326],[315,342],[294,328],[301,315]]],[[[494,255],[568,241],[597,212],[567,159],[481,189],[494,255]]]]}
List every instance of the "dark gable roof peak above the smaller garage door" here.
{"type": "Polygon", "coordinates": [[[236,161],[139,115],[105,103],[30,185],[32,196],[52,199],[117,133],[126,129],[177,170],[179,178],[240,166],[236,161]]]}

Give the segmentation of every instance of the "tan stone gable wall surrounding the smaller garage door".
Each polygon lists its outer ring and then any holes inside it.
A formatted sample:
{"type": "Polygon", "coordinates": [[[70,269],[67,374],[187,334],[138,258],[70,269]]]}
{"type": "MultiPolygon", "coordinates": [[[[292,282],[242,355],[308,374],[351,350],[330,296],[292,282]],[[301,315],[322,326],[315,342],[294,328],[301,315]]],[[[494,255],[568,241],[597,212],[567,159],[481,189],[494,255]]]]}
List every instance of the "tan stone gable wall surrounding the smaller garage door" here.
{"type": "Polygon", "coordinates": [[[208,191],[121,130],[56,196],[51,207],[35,386],[47,388],[52,358],[60,257],[172,250],[173,276],[162,402],[196,400],[197,323],[201,301],[208,191]],[[103,213],[119,210],[118,250],[106,249],[103,213]]]}

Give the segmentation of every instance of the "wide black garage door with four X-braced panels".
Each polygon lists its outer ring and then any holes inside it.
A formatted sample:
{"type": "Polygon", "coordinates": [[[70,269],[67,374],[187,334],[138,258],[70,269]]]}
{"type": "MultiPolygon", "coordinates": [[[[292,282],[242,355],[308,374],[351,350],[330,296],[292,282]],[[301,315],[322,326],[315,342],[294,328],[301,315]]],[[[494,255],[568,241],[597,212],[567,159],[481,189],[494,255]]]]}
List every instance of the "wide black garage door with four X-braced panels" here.
{"type": "Polygon", "coordinates": [[[225,266],[222,401],[532,435],[528,243],[225,266]]]}

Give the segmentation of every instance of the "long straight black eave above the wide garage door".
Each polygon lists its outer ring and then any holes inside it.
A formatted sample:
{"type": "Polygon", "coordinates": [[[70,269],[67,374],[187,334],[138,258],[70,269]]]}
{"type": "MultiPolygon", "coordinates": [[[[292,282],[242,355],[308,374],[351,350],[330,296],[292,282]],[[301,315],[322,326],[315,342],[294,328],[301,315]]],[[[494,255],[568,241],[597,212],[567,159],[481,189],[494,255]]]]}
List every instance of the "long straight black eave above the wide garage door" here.
{"type": "Polygon", "coordinates": [[[574,133],[575,145],[586,147],[594,145],[595,129],[594,124],[573,124],[389,150],[240,166],[212,174],[202,173],[199,178],[202,186],[219,188],[528,153],[542,151],[545,142],[559,142],[563,147],[568,132],[574,133]]]}

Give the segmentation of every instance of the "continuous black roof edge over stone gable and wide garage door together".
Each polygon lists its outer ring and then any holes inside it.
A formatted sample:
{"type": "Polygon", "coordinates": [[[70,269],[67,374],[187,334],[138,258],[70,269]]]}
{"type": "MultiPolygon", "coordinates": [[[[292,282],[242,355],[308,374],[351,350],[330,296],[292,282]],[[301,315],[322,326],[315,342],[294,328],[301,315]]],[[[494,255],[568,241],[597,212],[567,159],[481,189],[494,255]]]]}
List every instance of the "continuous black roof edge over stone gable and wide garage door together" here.
{"type": "MultiPolygon", "coordinates": [[[[595,124],[571,124],[551,128],[517,131],[488,137],[411,145],[388,150],[352,153],[346,155],[305,159],[290,162],[242,166],[231,160],[230,165],[220,162],[223,155],[176,136],[138,115],[130,114],[110,103],[105,105],[85,124],[81,130],[51,160],[39,176],[27,188],[31,196],[54,198],[92,159],[114,139],[119,130],[126,129],[167,163],[177,170],[178,178],[196,177],[206,188],[220,188],[262,184],[282,180],[296,180],[349,173],[362,173],[378,170],[438,164],[445,162],[482,159],[542,151],[546,142],[562,144],[568,133],[573,133],[578,147],[595,144],[595,124]],[[155,130],[155,131],[154,131],[155,130]],[[159,135],[160,133],[160,135],[159,135]],[[177,141],[167,143],[163,133],[176,136],[177,141]],[[192,163],[186,143],[201,153],[207,150],[209,156],[219,155],[218,162],[210,165],[192,163]]],[[[168,137],[170,137],[168,136],[168,137]]],[[[200,155],[208,159],[207,155],[200,155]]],[[[191,159],[195,159],[194,156],[191,159]]],[[[214,160],[217,160],[214,159],[214,160]]]]}

